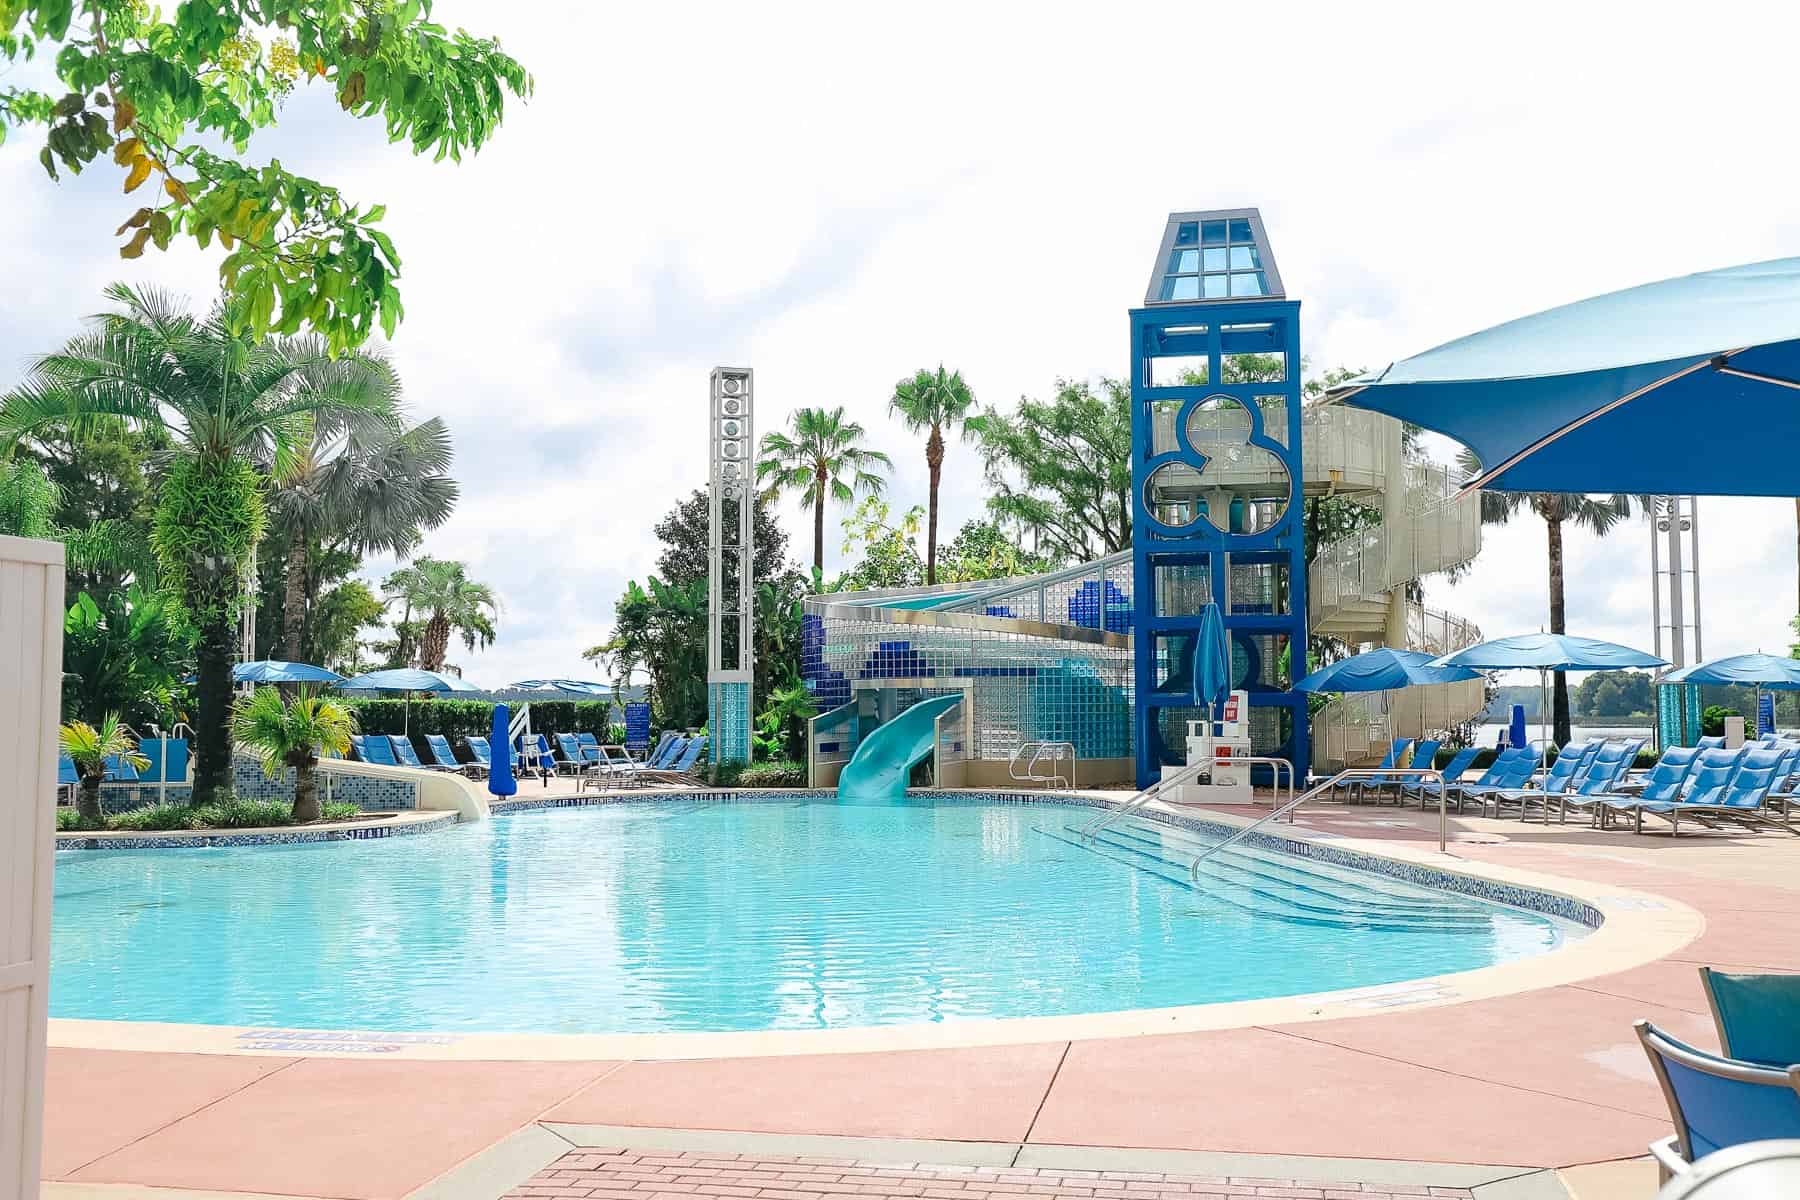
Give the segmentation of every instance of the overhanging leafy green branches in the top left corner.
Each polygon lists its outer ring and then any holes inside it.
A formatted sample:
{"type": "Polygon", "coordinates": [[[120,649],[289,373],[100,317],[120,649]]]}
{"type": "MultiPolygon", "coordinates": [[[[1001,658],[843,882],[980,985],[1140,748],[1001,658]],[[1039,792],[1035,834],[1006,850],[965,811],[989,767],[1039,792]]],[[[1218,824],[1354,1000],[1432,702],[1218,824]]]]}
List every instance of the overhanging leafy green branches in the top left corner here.
{"type": "MultiPolygon", "coordinates": [[[[43,126],[38,162],[79,175],[112,151],[124,191],[119,255],[167,250],[176,234],[227,250],[220,263],[234,335],[322,335],[333,351],[400,320],[400,255],[376,228],[385,209],[346,201],[279,160],[247,162],[299,85],[320,85],[391,142],[461,160],[493,135],[506,94],[531,76],[497,41],[430,20],[430,0],[5,0],[0,61],[40,59],[63,95],[0,86],[0,142],[43,126]]],[[[22,72],[22,77],[29,77],[22,72]]],[[[117,178],[117,176],[115,176],[117,178]]]]}

